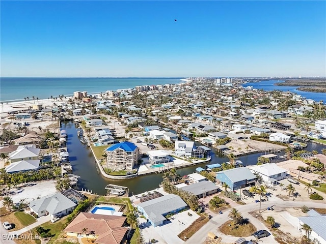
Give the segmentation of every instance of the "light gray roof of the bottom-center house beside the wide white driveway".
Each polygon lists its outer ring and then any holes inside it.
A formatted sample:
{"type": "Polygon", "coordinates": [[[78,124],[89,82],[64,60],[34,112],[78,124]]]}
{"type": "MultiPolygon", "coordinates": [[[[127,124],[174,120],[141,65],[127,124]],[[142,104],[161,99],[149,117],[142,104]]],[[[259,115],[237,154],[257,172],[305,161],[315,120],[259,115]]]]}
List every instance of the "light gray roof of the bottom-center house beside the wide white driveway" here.
{"type": "Polygon", "coordinates": [[[186,207],[187,204],[181,199],[181,197],[169,194],[139,203],[138,206],[144,209],[151,221],[159,222],[166,220],[162,214],[166,214],[178,208],[186,207]]]}

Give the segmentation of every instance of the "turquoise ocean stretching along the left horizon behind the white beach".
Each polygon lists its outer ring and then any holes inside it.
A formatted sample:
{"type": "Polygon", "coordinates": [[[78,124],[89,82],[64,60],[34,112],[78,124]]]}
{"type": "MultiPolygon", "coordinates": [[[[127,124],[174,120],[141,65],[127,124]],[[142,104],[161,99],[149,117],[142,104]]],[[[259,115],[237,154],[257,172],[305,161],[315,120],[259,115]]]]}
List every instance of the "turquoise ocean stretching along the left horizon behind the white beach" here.
{"type": "Polygon", "coordinates": [[[180,78],[32,78],[32,77],[1,77],[0,101],[24,101],[33,96],[47,99],[59,95],[72,96],[73,92],[87,90],[88,94],[134,88],[137,85],[177,84],[180,78]]]}

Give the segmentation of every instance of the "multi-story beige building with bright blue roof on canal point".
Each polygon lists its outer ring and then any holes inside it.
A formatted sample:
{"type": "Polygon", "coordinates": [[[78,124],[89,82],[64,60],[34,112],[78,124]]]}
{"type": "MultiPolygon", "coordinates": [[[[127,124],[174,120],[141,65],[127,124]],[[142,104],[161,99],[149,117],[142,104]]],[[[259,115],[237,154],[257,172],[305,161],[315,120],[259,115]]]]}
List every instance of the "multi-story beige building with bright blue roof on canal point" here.
{"type": "Polygon", "coordinates": [[[140,149],[137,145],[124,141],[114,144],[105,150],[108,166],[121,169],[133,169],[140,159],[140,149]]]}

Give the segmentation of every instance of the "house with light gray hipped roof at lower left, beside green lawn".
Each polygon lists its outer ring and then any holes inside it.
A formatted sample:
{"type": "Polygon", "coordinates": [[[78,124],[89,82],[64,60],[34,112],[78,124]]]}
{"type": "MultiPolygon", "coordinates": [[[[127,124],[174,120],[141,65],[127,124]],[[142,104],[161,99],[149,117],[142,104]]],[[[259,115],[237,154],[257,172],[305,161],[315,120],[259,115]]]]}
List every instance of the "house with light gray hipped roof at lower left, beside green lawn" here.
{"type": "Polygon", "coordinates": [[[55,219],[71,214],[76,207],[76,203],[58,192],[31,201],[29,207],[31,213],[34,212],[38,217],[50,215],[52,219],[55,219]]]}

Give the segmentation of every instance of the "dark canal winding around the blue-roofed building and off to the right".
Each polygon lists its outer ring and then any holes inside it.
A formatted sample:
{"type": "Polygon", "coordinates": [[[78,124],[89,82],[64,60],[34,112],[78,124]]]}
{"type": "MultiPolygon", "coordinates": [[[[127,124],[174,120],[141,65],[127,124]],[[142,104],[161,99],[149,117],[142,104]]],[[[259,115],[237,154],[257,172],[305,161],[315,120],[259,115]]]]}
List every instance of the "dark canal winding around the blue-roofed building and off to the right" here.
{"type": "MultiPolygon", "coordinates": [[[[68,134],[67,148],[73,169],[73,174],[80,176],[77,184],[78,190],[87,189],[98,195],[105,195],[105,186],[107,184],[115,184],[128,187],[130,194],[139,194],[158,188],[158,185],[162,181],[162,173],[149,174],[123,180],[111,180],[103,177],[97,169],[97,164],[91,149],[86,144],[83,144],[79,141],[77,136],[77,129],[73,122],[62,122],[61,129],[66,130],[68,134]]],[[[325,148],[325,146],[310,143],[307,147],[307,150],[318,150],[320,152],[322,148],[325,148]]],[[[262,154],[263,153],[250,154],[239,157],[238,159],[243,162],[244,166],[254,165],[257,163],[257,158],[262,154]]],[[[183,176],[195,172],[197,167],[205,168],[205,166],[208,164],[222,164],[227,161],[228,159],[226,157],[219,156],[215,150],[212,150],[211,162],[181,168],[177,170],[177,173],[183,176]]]]}

